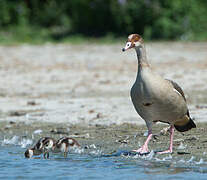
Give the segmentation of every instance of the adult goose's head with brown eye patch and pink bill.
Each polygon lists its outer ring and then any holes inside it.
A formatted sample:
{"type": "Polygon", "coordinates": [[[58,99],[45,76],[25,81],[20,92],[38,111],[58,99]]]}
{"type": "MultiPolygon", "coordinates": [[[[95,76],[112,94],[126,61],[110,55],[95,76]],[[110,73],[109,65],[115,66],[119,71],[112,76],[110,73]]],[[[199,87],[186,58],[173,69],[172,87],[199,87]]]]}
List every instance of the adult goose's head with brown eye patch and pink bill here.
{"type": "Polygon", "coordinates": [[[126,45],[124,48],[122,48],[122,51],[126,51],[131,48],[140,47],[143,44],[143,39],[138,34],[130,34],[128,36],[128,40],[126,42],[126,45]]]}

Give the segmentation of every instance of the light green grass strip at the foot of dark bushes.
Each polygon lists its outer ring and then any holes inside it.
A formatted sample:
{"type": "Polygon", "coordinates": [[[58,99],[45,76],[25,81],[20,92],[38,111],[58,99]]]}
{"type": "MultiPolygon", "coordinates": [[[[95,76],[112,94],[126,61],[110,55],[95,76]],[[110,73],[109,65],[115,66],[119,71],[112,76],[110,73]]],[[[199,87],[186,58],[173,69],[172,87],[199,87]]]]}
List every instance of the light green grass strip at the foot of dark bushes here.
{"type": "MultiPolygon", "coordinates": [[[[126,35],[127,36],[127,35],[126,35]]],[[[115,37],[109,33],[103,37],[88,37],[75,33],[54,33],[51,29],[40,29],[28,26],[9,27],[0,31],[0,45],[19,45],[19,44],[44,44],[44,43],[70,43],[70,44],[114,44],[126,41],[125,37],[115,37]]],[[[205,41],[206,34],[202,34],[196,38],[191,36],[190,39],[178,39],[177,41],[205,41]]],[[[156,40],[157,41],[157,40],[156,40]]],[[[159,40],[158,40],[159,41],[159,40]]],[[[163,40],[161,40],[163,41],[163,40]]],[[[166,40],[164,40],[166,41],[166,40]]]]}

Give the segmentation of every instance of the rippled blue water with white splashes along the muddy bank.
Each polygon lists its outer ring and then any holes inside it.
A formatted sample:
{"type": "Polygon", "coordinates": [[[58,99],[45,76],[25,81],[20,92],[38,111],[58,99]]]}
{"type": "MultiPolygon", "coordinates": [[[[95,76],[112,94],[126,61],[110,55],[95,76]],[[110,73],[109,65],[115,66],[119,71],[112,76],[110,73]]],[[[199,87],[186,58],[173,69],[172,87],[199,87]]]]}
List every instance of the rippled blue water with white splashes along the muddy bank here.
{"type": "Polygon", "coordinates": [[[14,136],[0,141],[0,179],[207,179],[203,160],[173,158],[171,155],[131,155],[117,151],[73,151],[67,158],[24,158],[31,140],[14,136]]]}

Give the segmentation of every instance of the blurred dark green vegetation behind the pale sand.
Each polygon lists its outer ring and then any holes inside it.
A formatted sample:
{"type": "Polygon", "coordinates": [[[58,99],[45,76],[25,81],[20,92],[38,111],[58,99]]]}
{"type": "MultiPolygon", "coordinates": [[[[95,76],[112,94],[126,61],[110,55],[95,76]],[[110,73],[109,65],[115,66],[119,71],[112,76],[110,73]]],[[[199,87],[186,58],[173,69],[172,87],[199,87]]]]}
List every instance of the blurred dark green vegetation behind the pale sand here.
{"type": "Polygon", "coordinates": [[[0,42],[207,40],[206,0],[0,0],[0,42]]]}

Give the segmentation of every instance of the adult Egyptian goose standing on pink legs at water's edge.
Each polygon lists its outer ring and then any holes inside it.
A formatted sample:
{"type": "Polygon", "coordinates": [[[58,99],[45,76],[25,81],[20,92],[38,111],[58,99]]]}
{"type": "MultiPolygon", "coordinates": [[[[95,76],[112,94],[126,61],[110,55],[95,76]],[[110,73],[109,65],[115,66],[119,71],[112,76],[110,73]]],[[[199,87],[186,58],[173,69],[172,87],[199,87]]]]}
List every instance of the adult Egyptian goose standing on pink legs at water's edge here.
{"type": "Polygon", "coordinates": [[[152,126],[160,121],[170,124],[170,145],[168,150],[158,154],[172,153],[174,128],[184,132],[196,127],[189,115],[184,93],[177,83],[163,79],[151,69],[140,35],[129,35],[122,51],[131,48],[137,53],[138,72],[130,95],[135,110],[145,120],[148,128],[148,137],[144,145],[134,151],[141,154],[149,152],[148,143],[152,137],[152,126]]]}

